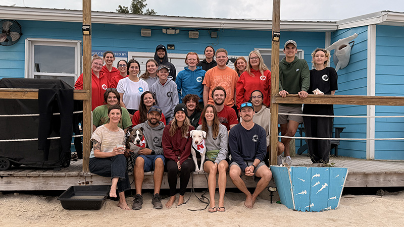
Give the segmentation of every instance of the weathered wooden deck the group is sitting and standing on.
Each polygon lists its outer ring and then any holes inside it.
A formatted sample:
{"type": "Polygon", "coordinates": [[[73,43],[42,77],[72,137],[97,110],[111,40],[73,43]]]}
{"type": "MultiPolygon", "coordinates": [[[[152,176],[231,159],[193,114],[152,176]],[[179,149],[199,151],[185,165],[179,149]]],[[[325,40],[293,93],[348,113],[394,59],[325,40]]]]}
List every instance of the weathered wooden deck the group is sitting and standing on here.
{"type": "MultiPolygon", "coordinates": [[[[309,164],[311,161],[305,155],[292,158],[293,165],[309,164]]],[[[345,187],[404,187],[404,161],[364,160],[348,157],[332,157],[330,162],[335,166],[348,167],[348,177],[345,187]]],[[[74,161],[60,171],[53,169],[32,169],[24,166],[14,167],[9,171],[0,171],[0,191],[27,190],[66,190],[73,185],[108,185],[109,178],[94,174],[83,174],[82,161],[74,161]]],[[[247,187],[255,187],[254,178],[243,177],[247,187]]],[[[131,186],[134,189],[133,173],[130,173],[131,186]]],[[[274,186],[272,180],[270,185],[274,186]]],[[[191,188],[192,181],[188,188],[191,188]]],[[[193,175],[194,188],[207,188],[205,174],[193,175]]],[[[227,187],[234,188],[230,178],[227,187]]],[[[144,189],[154,188],[153,174],[145,173],[144,189]]],[[[163,178],[162,188],[168,188],[167,177],[163,178]]]]}

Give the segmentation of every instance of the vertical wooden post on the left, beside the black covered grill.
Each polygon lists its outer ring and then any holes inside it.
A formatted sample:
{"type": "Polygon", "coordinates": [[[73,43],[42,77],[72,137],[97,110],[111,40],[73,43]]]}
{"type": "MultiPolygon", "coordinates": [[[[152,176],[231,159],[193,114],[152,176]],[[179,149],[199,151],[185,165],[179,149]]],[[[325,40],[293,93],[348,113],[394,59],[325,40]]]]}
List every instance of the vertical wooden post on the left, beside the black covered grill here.
{"type": "MultiPolygon", "coordinates": [[[[83,0],[83,25],[91,25],[91,0],[83,0]]],[[[91,27],[90,35],[83,35],[83,89],[90,92],[83,100],[83,173],[88,173],[91,150],[91,27]]]]}

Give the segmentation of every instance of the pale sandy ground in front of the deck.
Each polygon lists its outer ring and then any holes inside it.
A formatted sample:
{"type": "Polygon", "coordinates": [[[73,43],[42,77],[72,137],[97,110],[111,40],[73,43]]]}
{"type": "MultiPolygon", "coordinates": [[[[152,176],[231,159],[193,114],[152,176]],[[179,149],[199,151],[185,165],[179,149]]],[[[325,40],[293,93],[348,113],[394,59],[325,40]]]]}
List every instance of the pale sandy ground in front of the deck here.
{"type": "MultiPolygon", "coordinates": [[[[185,198],[188,196],[187,192],[185,198]]],[[[117,201],[107,200],[100,210],[88,211],[65,210],[53,196],[0,193],[0,226],[402,226],[404,222],[404,191],[383,196],[345,195],[338,209],[323,212],[293,211],[271,204],[268,192],[260,195],[252,209],[243,205],[244,199],[241,193],[226,193],[226,212],[189,211],[205,207],[193,195],[187,204],[156,210],[151,194],[145,193],[141,210],[123,211],[117,201]]],[[[131,207],[133,198],[126,200],[131,207]]],[[[166,201],[168,198],[163,204],[166,201]]]]}

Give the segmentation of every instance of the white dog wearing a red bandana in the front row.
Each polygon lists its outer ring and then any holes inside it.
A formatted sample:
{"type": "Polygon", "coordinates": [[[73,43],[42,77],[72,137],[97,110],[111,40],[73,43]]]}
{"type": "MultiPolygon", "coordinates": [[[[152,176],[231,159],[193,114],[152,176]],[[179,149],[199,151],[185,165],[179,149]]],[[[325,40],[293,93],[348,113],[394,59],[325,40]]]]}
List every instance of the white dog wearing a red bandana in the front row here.
{"type": "Polygon", "coordinates": [[[189,132],[189,134],[192,137],[191,154],[193,162],[195,162],[195,172],[204,172],[203,164],[205,161],[205,153],[206,153],[206,146],[205,146],[206,132],[202,130],[192,130],[189,132]],[[198,162],[196,161],[195,151],[198,151],[200,153],[199,168],[198,168],[198,162]]]}

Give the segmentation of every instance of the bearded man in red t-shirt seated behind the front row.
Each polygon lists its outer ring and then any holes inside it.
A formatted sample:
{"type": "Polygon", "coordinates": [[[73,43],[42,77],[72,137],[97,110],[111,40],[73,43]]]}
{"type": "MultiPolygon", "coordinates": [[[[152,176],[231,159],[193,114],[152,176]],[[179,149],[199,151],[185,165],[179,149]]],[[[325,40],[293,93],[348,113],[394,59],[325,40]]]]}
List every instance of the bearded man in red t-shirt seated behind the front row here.
{"type": "MultiPolygon", "coordinates": [[[[233,108],[224,104],[226,99],[226,90],[222,86],[217,86],[212,90],[212,97],[218,112],[219,122],[226,126],[227,131],[238,124],[237,115],[233,108]]],[[[199,119],[199,125],[202,120],[199,119]]]]}

